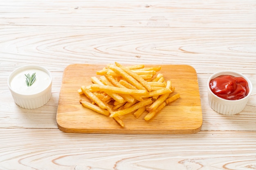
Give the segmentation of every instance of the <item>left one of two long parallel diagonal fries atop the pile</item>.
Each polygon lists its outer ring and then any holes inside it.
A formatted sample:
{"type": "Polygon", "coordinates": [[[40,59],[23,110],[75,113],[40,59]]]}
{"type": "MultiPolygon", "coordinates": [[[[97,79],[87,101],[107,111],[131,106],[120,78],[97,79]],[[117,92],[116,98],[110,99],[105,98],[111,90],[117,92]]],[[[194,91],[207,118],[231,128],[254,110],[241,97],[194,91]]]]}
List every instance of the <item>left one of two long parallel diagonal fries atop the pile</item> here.
{"type": "Polygon", "coordinates": [[[126,79],[126,81],[128,81],[130,84],[134,85],[137,89],[146,89],[135,78],[130,76],[128,73],[126,73],[124,70],[117,67],[116,65],[108,64],[108,68],[110,68],[111,70],[114,70],[117,74],[120,74],[124,79],[126,79]]]}

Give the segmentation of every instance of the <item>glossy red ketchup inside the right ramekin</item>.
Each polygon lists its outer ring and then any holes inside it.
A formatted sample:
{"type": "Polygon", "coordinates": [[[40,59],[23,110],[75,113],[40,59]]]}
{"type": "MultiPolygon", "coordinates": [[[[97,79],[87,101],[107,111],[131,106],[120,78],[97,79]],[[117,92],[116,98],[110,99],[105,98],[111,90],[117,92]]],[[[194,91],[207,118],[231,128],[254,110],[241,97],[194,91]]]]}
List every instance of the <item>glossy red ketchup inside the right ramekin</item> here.
{"type": "Polygon", "coordinates": [[[238,100],[249,93],[248,83],[242,77],[221,75],[213,78],[209,85],[216,96],[227,100],[238,100]]]}

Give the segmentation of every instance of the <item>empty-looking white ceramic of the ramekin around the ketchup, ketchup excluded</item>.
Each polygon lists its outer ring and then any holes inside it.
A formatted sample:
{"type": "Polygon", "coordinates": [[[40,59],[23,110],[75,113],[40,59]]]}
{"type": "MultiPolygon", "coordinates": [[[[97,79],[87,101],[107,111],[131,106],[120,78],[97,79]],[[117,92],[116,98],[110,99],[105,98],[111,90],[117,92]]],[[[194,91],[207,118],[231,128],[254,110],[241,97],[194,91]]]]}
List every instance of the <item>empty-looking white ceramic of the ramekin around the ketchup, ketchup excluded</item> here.
{"type": "Polygon", "coordinates": [[[240,74],[238,72],[220,71],[220,72],[216,72],[215,74],[213,74],[209,77],[208,82],[207,82],[207,89],[208,89],[209,105],[214,111],[224,114],[224,115],[234,115],[234,114],[240,113],[245,108],[245,105],[247,104],[247,101],[249,100],[249,97],[252,94],[252,82],[247,77],[245,77],[243,74],[240,74]],[[244,98],[238,99],[238,100],[227,100],[227,99],[223,99],[223,98],[216,96],[211,91],[209,84],[210,84],[211,79],[216,78],[220,75],[231,75],[231,76],[236,76],[236,77],[243,77],[247,81],[248,86],[249,86],[249,93],[247,94],[247,96],[245,96],[244,98]]]}

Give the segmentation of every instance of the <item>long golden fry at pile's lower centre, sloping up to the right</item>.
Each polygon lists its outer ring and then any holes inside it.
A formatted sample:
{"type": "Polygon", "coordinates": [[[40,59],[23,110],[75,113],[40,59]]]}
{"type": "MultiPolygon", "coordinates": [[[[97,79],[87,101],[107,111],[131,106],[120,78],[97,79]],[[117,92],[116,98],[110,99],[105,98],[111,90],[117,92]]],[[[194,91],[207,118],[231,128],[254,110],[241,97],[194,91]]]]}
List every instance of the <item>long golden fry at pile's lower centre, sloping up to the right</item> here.
{"type": "Polygon", "coordinates": [[[122,109],[122,110],[118,110],[118,111],[114,111],[113,113],[110,114],[110,118],[116,117],[116,116],[122,116],[122,115],[126,115],[128,113],[131,113],[132,111],[135,111],[141,107],[150,105],[153,101],[151,100],[151,98],[148,98],[142,102],[138,102],[135,105],[132,105],[129,108],[126,109],[122,109]]]}

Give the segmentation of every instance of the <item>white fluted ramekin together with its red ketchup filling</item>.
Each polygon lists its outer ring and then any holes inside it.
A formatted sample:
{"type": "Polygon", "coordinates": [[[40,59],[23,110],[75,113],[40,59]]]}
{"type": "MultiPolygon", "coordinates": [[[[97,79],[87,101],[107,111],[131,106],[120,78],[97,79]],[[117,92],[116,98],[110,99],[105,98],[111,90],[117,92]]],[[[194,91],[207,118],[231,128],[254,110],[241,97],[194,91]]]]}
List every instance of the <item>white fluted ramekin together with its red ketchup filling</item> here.
{"type": "Polygon", "coordinates": [[[209,77],[207,81],[207,91],[209,105],[214,111],[224,115],[234,115],[240,113],[245,108],[252,94],[252,82],[246,76],[238,72],[220,71],[209,77]],[[218,83],[218,80],[220,80],[218,78],[223,75],[225,76],[222,78],[225,80],[218,83]],[[227,84],[225,85],[225,83],[227,84]],[[238,83],[238,85],[236,83],[238,83]],[[241,85],[239,83],[241,83],[241,85]],[[245,84],[247,84],[247,87],[245,84]],[[220,86],[219,89],[218,86],[220,86]],[[217,90],[214,88],[217,88],[217,90]],[[224,88],[224,90],[221,88],[224,88]],[[219,95],[220,91],[224,93],[227,91],[227,95],[219,95]]]}

